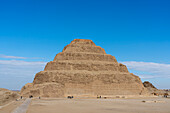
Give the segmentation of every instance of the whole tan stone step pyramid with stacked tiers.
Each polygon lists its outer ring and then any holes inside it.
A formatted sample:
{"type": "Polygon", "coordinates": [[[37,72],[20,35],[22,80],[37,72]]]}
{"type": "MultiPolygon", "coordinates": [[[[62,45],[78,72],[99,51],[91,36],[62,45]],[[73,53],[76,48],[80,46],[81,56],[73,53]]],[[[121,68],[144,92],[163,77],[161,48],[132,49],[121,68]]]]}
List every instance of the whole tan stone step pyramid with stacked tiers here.
{"type": "Polygon", "coordinates": [[[75,39],[22,88],[24,96],[64,97],[142,95],[138,76],[91,40],[75,39]]]}

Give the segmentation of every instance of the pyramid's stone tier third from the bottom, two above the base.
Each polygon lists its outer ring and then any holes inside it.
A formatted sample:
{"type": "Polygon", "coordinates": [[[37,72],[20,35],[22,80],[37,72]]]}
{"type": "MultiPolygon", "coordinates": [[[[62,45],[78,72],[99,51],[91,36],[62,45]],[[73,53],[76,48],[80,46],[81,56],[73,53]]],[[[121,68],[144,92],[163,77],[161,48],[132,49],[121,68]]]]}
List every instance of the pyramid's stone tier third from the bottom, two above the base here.
{"type": "Polygon", "coordinates": [[[128,73],[127,67],[123,64],[86,60],[51,61],[47,63],[44,70],[119,71],[128,73]]]}

